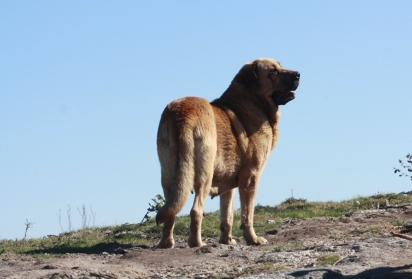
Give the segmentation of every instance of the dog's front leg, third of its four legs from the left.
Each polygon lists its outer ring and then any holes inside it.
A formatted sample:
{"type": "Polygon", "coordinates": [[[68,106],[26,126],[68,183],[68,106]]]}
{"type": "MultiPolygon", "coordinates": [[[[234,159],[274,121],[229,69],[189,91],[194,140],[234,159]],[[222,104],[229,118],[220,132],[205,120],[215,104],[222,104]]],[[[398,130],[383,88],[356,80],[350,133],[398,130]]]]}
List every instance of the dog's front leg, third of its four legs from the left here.
{"type": "Polygon", "coordinates": [[[233,208],[235,201],[235,189],[220,194],[220,239],[219,243],[235,245],[231,230],[233,226],[233,208]]]}

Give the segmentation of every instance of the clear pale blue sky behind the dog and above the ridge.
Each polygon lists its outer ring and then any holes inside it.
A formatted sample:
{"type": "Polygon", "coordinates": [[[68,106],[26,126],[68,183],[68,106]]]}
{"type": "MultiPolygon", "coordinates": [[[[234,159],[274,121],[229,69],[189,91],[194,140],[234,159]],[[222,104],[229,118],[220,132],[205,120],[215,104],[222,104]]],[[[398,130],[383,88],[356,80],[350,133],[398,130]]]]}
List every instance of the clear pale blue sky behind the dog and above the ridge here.
{"type": "Polygon", "coordinates": [[[0,1],[0,239],[141,221],[165,105],[260,57],[301,82],[257,203],[411,190],[411,51],[412,1],[0,1]]]}

